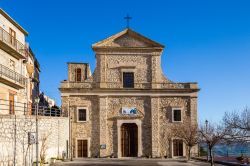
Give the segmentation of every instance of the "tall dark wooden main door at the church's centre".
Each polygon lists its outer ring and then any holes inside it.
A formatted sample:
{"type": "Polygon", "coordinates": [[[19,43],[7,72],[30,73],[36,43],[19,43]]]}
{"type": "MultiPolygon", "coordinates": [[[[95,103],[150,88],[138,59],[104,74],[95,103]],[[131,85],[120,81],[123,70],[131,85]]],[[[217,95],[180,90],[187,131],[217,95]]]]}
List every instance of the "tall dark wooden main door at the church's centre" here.
{"type": "Polygon", "coordinates": [[[135,123],[124,123],[121,126],[122,157],[137,157],[138,127],[135,123]]]}

